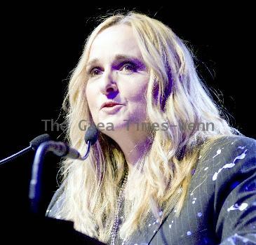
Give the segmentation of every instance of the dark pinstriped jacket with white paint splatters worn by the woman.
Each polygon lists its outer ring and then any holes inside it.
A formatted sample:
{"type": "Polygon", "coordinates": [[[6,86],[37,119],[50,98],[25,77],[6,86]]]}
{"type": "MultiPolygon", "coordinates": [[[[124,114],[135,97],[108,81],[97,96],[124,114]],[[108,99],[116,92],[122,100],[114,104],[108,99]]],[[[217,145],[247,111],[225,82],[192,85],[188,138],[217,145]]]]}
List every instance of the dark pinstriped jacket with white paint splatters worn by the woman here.
{"type": "MultiPolygon", "coordinates": [[[[218,139],[201,153],[192,174],[180,216],[173,210],[157,223],[151,215],[126,244],[256,244],[255,139],[218,139]]],[[[49,210],[58,209],[58,197],[49,210]]]]}

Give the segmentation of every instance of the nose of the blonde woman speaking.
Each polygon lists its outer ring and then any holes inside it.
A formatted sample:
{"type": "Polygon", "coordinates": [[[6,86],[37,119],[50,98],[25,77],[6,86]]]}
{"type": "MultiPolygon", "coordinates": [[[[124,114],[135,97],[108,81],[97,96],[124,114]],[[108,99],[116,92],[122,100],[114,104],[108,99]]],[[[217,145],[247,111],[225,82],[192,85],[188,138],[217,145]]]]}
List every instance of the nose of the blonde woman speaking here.
{"type": "Polygon", "coordinates": [[[118,91],[119,90],[116,84],[116,76],[114,75],[114,72],[105,71],[100,84],[100,92],[107,95],[107,97],[115,97],[118,91]]]}

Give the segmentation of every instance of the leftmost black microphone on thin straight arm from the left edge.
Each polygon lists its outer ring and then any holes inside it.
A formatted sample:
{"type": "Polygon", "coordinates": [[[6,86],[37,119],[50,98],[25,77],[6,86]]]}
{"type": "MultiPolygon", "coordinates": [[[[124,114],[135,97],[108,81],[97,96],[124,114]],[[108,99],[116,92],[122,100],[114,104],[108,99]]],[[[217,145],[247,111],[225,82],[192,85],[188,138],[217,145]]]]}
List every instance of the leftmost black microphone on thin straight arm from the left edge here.
{"type": "Polygon", "coordinates": [[[24,153],[27,153],[28,151],[34,150],[36,151],[37,148],[39,148],[40,144],[42,144],[45,141],[50,141],[50,135],[49,134],[41,134],[38,137],[32,139],[32,141],[29,142],[29,146],[22,151],[19,151],[18,153],[15,153],[11,155],[8,158],[5,158],[0,161],[0,165],[4,164],[5,162],[10,162],[11,160],[17,158],[19,155],[22,155],[24,153]]]}

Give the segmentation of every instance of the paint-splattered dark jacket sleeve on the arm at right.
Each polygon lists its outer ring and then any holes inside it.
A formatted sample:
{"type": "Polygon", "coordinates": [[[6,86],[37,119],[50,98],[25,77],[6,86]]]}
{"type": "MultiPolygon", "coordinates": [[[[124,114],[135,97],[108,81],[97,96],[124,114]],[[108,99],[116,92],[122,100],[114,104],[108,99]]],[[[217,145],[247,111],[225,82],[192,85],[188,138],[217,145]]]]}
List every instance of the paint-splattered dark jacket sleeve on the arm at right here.
{"type": "Polygon", "coordinates": [[[256,141],[231,139],[217,149],[215,232],[220,245],[256,244],[256,141]]]}

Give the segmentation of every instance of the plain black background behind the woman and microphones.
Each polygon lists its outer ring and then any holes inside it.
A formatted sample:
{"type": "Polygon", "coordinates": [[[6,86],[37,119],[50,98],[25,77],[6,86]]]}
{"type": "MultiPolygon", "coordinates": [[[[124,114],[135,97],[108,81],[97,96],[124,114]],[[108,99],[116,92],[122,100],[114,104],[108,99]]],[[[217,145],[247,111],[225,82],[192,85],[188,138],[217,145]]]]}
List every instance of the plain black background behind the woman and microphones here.
{"type": "MultiPolygon", "coordinates": [[[[14,3],[13,3],[14,4],[14,3]]],[[[6,6],[1,8],[0,159],[46,133],[41,120],[57,120],[68,76],[76,66],[95,17],[123,6],[6,6]]],[[[220,95],[231,125],[255,138],[255,39],[251,6],[240,4],[133,6],[166,25],[197,57],[198,72],[220,95]]],[[[216,99],[215,95],[213,97],[216,99]]],[[[62,122],[62,117],[58,120],[62,122]]],[[[61,131],[47,131],[62,139],[61,131]]],[[[1,210],[28,207],[34,153],[0,166],[1,210]]],[[[43,211],[57,188],[60,160],[48,155],[43,172],[43,211]]]]}

